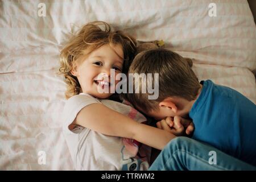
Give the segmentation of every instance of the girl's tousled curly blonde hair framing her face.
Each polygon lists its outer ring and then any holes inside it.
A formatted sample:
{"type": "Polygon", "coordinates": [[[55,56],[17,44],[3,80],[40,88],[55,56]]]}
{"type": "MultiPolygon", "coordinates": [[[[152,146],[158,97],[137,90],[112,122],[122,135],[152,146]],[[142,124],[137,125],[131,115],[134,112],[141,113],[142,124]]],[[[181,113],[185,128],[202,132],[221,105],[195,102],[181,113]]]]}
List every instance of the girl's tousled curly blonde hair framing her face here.
{"type": "Polygon", "coordinates": [[[123,73],[127,73],[136,52],[136,40],[122,31],[112,31],[106,22],[96,21],[85,24],[78,34],[74,35],[60,52],[60,73],[65,77],[67,90],[65,97],[75,96],[82,92],[79,81],[71,71],[75,61],[83,59],[90,53],[109,44],[120,44],[123,48],[123,73]]]}

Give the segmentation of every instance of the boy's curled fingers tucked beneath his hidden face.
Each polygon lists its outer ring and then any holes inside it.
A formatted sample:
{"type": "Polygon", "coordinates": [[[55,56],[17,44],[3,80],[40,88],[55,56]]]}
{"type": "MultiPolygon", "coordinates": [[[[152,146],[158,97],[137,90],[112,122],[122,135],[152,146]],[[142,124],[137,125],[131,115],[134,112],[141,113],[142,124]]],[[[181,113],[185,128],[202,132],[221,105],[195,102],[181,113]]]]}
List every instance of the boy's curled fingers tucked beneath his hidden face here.
{"type": "Polygon", "coordinates": [[[166,119],[162,119],[161,121],[156,123],[156,127],[162,130],[167,130],[176,136],[184,135],[184,132],[187,135],[190,135],[194,130],[194,125],[192,121],[181,118],[179,116],[175,116],[174,118],[167,117],[166,119]]]}

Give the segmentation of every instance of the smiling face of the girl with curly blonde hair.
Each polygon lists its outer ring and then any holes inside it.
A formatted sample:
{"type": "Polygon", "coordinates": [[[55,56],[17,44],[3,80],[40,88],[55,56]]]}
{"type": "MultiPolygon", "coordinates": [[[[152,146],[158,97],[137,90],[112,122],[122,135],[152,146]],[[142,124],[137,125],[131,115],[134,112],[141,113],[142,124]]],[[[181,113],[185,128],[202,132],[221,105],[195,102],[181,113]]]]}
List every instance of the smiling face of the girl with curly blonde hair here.
{"type": "Polygon", "coordinates": [[[113,94],[110,93],[110,89],[113,86],[115,88],[115,85],[119,82],[115,79],[115,84],[110,84],[110,69],[115,69],[116,76],[122,72],[122,67],[122,46],[120,44],[113,46],[106,44],[90,53],[84,60],[77,61],[72,70],[72,75],[79,80],[82,92],[103,99],[113,94]],[[108,90],[108,93],[100,93],[99,88],[108,90]]]}

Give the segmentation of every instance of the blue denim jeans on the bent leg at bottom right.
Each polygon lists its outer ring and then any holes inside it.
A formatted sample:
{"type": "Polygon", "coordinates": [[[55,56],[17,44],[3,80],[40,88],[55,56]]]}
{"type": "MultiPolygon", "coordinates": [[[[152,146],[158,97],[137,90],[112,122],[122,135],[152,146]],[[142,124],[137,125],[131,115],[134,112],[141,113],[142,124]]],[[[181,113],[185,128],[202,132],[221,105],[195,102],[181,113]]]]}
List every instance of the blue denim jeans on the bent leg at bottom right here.
{"type": "Polygon", "coordinates": [[[177,137],[164,147],[149,170],[256,170],[256,167],[208,144],[187,137],[177,137]]]}

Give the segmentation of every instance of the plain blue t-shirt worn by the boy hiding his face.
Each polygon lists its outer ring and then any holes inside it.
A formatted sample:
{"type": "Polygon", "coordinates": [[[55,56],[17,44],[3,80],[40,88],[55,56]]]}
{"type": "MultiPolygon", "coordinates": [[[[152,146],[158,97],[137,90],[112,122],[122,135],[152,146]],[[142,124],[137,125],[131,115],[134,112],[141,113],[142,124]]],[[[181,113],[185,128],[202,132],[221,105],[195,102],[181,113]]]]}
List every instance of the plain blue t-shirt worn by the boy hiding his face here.
{"type": "Polygon", "coordinates": [[[192,138],[256,166],[256,105],[226,86],[210,80],[201,84],[189,112],[195,124],[192,138]]]}

